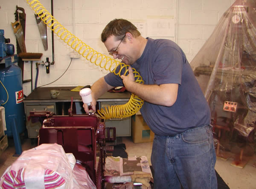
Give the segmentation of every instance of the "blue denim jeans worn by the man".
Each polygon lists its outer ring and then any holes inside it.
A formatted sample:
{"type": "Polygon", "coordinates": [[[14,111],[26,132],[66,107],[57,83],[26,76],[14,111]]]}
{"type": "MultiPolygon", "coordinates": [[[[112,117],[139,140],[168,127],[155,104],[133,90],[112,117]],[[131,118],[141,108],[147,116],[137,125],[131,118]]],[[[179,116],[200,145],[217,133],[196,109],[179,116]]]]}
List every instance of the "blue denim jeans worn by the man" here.
{"type": "Polygon", "coordinates": [[[154,189],[217,189],[216,154],[209,125],[175,136],[155,135],[154,189]]]}

